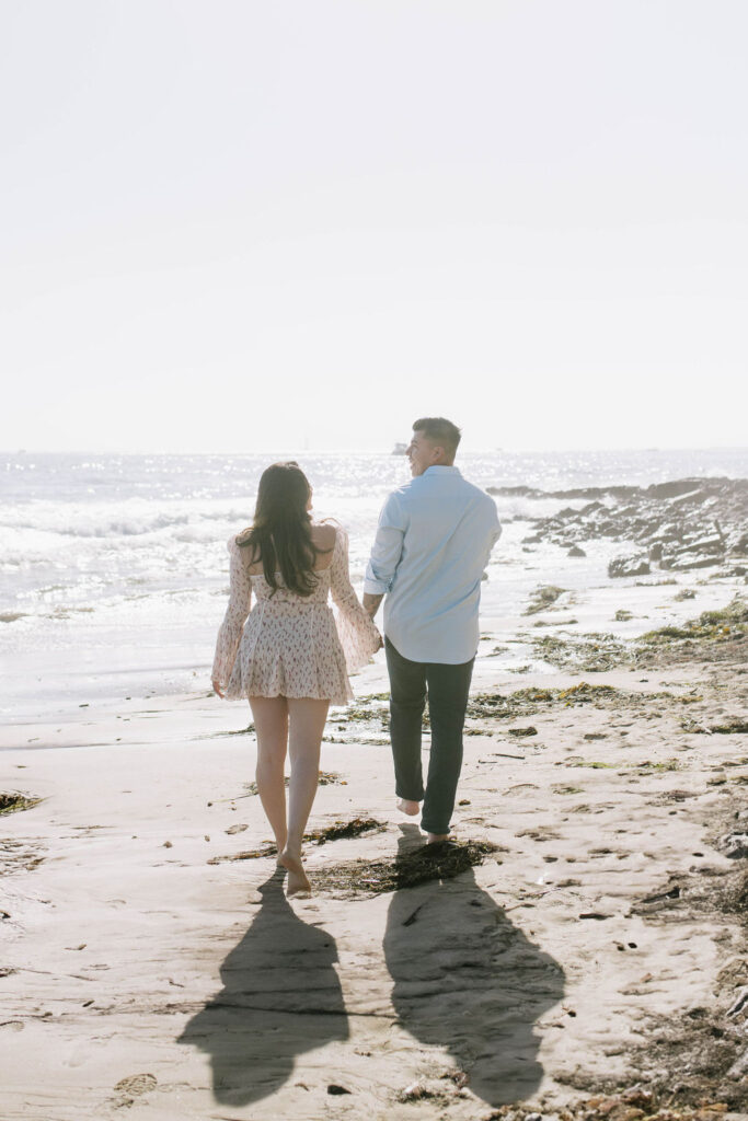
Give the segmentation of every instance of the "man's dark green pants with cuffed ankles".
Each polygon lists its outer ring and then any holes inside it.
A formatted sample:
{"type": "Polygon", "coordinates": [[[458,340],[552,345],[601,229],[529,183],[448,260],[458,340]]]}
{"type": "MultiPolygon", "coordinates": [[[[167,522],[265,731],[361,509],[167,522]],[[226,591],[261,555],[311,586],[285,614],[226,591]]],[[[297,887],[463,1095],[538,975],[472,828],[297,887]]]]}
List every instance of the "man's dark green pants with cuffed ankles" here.
{"type": "Polygon", "coordinates": [[[389,671],[389,735],[395,761],[395,793],[412,802],[423,799],[422,827],[449,833],[462,768],[462,729],[474,658],[451,666],[409,661],[385,641],[389,671]],[[421,729],[428,696],[431,758],[424,790],[421,729]]]}

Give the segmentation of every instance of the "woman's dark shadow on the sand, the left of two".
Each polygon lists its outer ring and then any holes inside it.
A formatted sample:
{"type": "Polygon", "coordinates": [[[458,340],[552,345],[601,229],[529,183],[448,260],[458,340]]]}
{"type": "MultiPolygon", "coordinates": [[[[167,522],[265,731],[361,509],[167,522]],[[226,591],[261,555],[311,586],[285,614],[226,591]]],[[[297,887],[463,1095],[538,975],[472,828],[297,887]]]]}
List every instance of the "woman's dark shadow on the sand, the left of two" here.
{"type": "Polygon", "coordinates": [[[262,905],[221,966],[223,990],[178,1039],[211,1056],[213,1093],[229,1105],[275,1093],[297,1055],[349,1036],[334,939],[297,917],[281,870],[259,890],[262,905]]]}

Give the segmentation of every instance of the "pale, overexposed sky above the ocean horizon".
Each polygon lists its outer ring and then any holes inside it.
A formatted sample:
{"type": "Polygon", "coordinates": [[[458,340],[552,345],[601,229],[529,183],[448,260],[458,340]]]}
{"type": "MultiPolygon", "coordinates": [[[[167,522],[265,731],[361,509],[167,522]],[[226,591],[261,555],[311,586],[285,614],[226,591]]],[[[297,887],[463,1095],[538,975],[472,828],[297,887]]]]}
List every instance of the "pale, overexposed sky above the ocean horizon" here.
{"type": "Polygon", "coordinates": [[[0,447],[741,446],[745,0],[0,0],[0,447]]]}

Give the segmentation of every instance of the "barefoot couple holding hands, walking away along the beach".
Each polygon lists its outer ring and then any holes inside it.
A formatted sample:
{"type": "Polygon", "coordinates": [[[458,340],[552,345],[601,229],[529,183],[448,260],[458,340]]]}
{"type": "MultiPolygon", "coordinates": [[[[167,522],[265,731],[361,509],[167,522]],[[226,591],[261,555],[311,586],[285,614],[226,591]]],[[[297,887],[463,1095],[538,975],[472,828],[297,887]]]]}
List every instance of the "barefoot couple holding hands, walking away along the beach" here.
{"type": "Polygon", "coordinates": [[[312,488],[296,463],[274,463],[262,473],[255,520],[229,540],[230,597],[213,688],[219,696],[249,698],[257,788],[278,862],[288,872],[288,895],[311,891],[302,839],[327,708],[352,698],[348,674],[382,645],[398,808],[415,816],[423,803],[428,842],[449,836],[478,648],[480,583],[500,526],[493,500],[454,466],[460,429],[443,417],[416,420],[413,429],[413,479],[382,508],[363,604],[351,586],[348,537],[342,527],[312,519],[312,488]],[[336,613],[327,605],[330,594],[336,613]],[[373,622],[382,599],[384,642],[373,622]],[[424,787],[426,697],[432,742],[424,787]]]}

